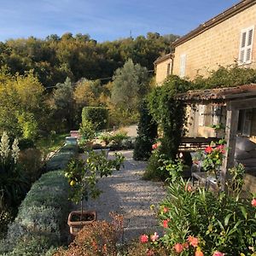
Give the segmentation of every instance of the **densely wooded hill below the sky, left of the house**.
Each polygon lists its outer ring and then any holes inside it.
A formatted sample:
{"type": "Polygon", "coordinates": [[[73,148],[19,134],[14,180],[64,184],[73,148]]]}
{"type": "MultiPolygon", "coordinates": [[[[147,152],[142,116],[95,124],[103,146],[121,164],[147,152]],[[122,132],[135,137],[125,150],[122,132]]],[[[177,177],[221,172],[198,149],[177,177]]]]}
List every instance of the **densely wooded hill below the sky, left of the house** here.
{"type": "MultiPolygon", "coordinates": [[[[67,77],[73,82],[81,78],[110,78],[118,67],[131,59],[148,70],[161,54],[170,52],[175,35],[160,36],[148,32],[147,36],[122,38],[113,42],[97,43],[88,34],[67,32],[60,37],[45,39],[20,38],[0,42],[0,67],[9,67],[12,74],[23,74],[33,69],[45,87],[62,83],[67,77]]],[[[108,79],[102,80],[108,83],[108,79]]]]}

